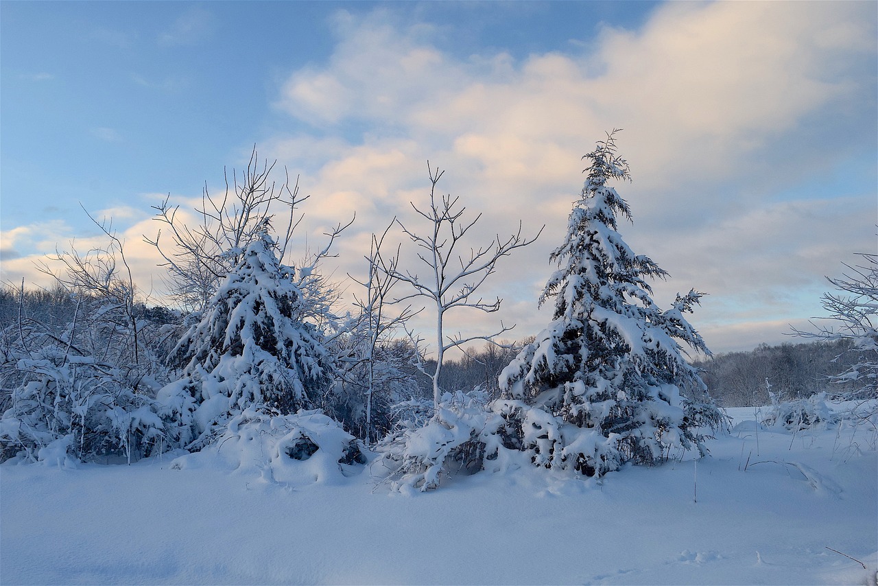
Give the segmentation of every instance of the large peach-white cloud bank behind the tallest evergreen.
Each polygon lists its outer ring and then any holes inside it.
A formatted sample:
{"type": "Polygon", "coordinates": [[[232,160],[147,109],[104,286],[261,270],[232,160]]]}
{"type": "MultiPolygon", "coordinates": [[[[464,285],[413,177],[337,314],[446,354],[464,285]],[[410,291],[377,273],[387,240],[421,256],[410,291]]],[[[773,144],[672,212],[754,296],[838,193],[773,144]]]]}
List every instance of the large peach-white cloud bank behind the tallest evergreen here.
{"type": "MultiPolygon", "coordinates": [[[[623,235],[673,274],[656,287],[659,303],[708,290],[694,322],[716,323],[709,336],[734,345],[738,329],[774,331],[778,312],[802,310],[796,291],[816,293],[833,265],[874,242],[874,194],[771,195],[874,150],[861,128],[875,123],[872,17],[861,3],[672,3],[639,31],[604,29],[592,53],[574,44],[515,62],[457,60],[432,44],[431,26],[402,25],[389,11],[340,12],[335,53],[294,72],[278,102],[321,136],[275,136],[272,151],[306,166],[302,185],[321,221],[356,209],[354,231],[383,228],[393,213],[413,221],[407,202],[426,197],[426,159],[448,170],[443,192],[485,212],[486,235],[520,218],[526,231],[547,224],[495,276],[497,289],[518,293],[504,315],[523,336],[546,320],[536,295],[579,191],[579,157],[624,127],[634,183],[620,190],[636,224],[623,235]],[[359,139],[346,134],[350,121],[367,128],[359,139]]],[[[349,270],[361,241],[340,244],[349,270]]]]}

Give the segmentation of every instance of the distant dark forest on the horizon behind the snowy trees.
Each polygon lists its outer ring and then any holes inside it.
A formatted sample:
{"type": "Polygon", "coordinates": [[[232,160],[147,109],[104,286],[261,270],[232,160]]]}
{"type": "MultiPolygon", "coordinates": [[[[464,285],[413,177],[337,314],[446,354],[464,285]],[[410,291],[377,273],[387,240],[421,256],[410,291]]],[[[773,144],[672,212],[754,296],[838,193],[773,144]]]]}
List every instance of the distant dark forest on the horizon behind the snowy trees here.
{"type": "MultiPolygon", "coordinates": [[[[76,300],[61,287],[25,289],[23,304],[19,303],[20,298],[20,292],[11,286],[0,288],[0,328],[5,336],[15,335],[19,308],[28,318],[38,320],[59,335],[75,318],[76,300]]],[[[182,326],[184,322],[184,315],[167,307],[140,305],[137,313],[141,320],[165,328],[182,326]]],[[[169,339],[173,338],[169,336],[169,339]]],[[[464,351],[461,358],[446,357],[440,387],[446,391],[479,388],[492,399],[498,397],[500,371],[515,358],[522,345],[532,339],[502,341],[500,346],[490,343],[481,347],[473,345],[464,351]]],[[[759,344],[752,351],[716,354],[696,360],[694,365],[702,369],[702,379],[707,383],[711,396],[721,406],[766,405],[770,403],[766,380],[771,392],[787,399],[809,397],[821,391],[833,394],[849,390],[849,384],[830,379],[859,361],[858,354],[849,351],[850,346],[848,340],[774,346],[759,344]]],[[[411,344],[405,340],[400,340],[396,347],[403,353],[412,351],[411,344]]],[[[170,351],[171,348],[166,345],[164,350],[170,351]]],[[[424,362],[428,370],[435,365],[429,359],[424,362]]],[[[408,376],[417,381],[422,397],[428,399],[432,394],[431,380],[414,365],[409,369],[408,376]]],[[[0,412],[6,408],[9,392],[7,388],[0,390],[0,412]]]]}

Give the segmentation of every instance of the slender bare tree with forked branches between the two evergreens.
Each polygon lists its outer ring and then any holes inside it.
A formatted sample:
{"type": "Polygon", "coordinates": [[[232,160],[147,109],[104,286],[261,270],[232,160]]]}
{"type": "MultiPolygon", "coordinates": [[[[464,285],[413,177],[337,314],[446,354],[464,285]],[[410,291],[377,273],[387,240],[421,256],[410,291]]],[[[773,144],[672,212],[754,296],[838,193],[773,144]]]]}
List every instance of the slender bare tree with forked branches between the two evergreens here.
{"type": "Polygon", "coordinates": [[[459,250],[464,247],[464,236],[476,225],[482,214],[476,215],[472,221],[464,220],[466,208],[458,206],[459,198],[440,195],[436,190],[436,185],[444,171],[440,171],[438,167],[431,168],[429,162],[427,169],[431,184],[429,207],[422,210],[412,203],[414,211],[428,221],[427,235],[418,235],[399,219],[396,219],[396,223],[414,242],[418,249],[418,258],[428,267],[428,274],[421,277],[412,271],[399,270],[396,260],[390,264],[381,264],[380,270],[393,279],[414,287],[414,293],[400,298],[397,302],[422,297],[435,306],[436,365],[433,373],[425,372],[425,374],[433,380],[433,403],[438,407],[441,396],[439,376],[442,373],[445,352],[473,340],[491,341],[493,337],[500,336],[514,327],[504,326],[501,322],[500,330],[488,336],[465,338],[446,336],[444,331],[446,314],[461,307],[478,309],[486,313],[498,311],[500,298],[485,301],[477,297],[476,292],[496,270],[500,258],[534,242],[543,232],[544,227],[540,228],[536,236],[528,239],[522,236],[522,224],[519,222],[518,231],[506,240],[500,240],[500,235],[497,235],[490,245],[479,249],[470,248],[469,254],[461,254],[459,250]]]}

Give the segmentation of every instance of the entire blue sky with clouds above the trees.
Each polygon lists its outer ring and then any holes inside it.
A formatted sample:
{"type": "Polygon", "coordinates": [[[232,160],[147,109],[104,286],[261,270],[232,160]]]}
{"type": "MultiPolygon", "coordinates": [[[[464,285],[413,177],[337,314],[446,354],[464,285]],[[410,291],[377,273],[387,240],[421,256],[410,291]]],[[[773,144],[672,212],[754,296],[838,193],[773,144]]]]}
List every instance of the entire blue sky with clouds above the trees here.
{"type": "Polygon", "coordinates": [[[488,237],[547,225],[488,283],[502,315],[451,324],[526,336],[579,157],[622,127],[621,231],[671,273],[659,305],[709,293],[692,321],[715,351],[785,341],[822,313],[824,275],[876,250],[876,20],[845,2],[3,2],[3,280],[98,243],[82,205],[161,294],[150,206],[191,205],[254,144],[312,195],[303,247],[356,210],[327,270],[358,274],[371,231],[414,221],[429,159],[488,237]]]}

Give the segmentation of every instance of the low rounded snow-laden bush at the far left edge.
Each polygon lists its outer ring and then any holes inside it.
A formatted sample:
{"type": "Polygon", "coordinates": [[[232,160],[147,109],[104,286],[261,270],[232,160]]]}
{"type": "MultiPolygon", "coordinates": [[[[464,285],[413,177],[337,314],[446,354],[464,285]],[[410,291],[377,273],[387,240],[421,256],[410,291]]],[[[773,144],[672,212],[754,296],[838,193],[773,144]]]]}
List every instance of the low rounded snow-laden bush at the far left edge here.
{"type": "Polygon", "coordinates": [[[124,375],[91,357],[47,346],[20,358],[21,383],[0,420],[0,460],[67,463],[133,459],[166,449],[155,402],[124,375]]]}

